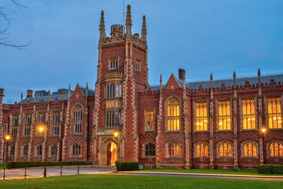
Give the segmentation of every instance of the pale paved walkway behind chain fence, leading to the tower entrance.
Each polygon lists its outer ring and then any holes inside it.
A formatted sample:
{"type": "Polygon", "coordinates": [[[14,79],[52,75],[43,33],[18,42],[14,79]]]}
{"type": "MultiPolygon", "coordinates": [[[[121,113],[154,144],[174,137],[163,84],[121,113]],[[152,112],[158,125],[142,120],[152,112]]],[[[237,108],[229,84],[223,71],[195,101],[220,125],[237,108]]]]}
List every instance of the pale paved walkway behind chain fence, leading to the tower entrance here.
{"type": "MultiPolygon", "coordinates": [[[[21,178],[42,178],[44,167],[33,168],[13,168],[11,170],[6,169],[5,180],[21,179],[21,178]]],[[[47,166],[47,177],[50,176],[68,176],[79,174],[100,174],[110,173],[115,171],[115,167],[112,166],[47,166]]],[[[4,180],[4,170],[0,170],[0,180],[4,180]]]]}

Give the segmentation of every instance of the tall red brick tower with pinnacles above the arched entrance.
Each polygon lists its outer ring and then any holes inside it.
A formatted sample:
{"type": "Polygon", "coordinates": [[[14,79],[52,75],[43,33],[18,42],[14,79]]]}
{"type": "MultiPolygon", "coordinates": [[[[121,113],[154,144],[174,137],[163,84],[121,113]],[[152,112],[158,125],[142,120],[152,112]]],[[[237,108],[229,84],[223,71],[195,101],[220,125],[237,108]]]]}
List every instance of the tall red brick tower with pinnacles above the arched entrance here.
{"type": "Polygon", "coordinates": [[[104,13],[100,17],[100,40],[96,101],[93,112],[93,162],[107,164],[107,147],[120,145],[117,159],[138,160],[137,91],[148,88],[146,18],[143,16],[141,37],[132,35],[131,6],[127,6],[125,29],[112,25],[105,34],[104,13]],[[120,128],[119,137],[114,132],[120,128]],[[120,153],[119,153],[120,151],[120,153]],[[120,155],[119,155],[120,154],[120,155]]]}

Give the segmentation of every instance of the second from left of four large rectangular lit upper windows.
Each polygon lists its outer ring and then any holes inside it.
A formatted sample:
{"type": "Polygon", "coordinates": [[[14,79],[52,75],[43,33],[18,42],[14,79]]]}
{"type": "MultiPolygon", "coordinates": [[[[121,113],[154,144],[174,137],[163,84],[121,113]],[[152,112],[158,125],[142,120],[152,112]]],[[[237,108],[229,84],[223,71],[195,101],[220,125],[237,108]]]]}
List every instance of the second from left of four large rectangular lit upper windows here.
{"type": "Polygon", "coordinates": [[[230,101],[218,102],[219,130],[231,130],[230,101]]]}

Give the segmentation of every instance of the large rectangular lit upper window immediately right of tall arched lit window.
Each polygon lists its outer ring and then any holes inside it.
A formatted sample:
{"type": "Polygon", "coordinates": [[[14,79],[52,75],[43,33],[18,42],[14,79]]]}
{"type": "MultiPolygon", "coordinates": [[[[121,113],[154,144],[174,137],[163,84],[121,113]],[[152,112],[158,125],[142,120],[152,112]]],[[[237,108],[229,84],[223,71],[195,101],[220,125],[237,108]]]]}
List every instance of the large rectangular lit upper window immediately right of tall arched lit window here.
{"type": "Polygon", "coordinates": [[[195,103],[195,129],[197,131],[207,130],[207,103],[195,103]]]}

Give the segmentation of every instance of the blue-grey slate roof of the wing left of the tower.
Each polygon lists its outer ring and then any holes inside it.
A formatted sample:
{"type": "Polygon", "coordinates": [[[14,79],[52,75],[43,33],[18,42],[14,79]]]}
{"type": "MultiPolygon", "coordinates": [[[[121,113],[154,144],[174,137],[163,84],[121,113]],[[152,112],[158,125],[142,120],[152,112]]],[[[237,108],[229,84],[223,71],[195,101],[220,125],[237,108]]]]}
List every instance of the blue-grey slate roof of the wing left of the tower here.
{"type": "MultiPolygon", "coordinates": [[[[86,87],[81,87],[81,91],[83,92],[83,95],[86,95],[86,87]]],[[[62,101],[63,98],[63,93],[59,93],[58,92],[54,92],[52,94],[50,94],[50,102],[55,101],[55,99],[57,98],[58,101],[62,101]]],[[[74,91],[71,91],[71,95],[74,93],[74,91]]],[[[93,89],[88,88],[88,96],[94,96],[95,91],[93,89]]],[[[65,92],[64,93],[64,100],[68,100],[69,99],[69,92],[65,92]]],[[[48,95],[45,96],[37,96],[36,98],[34,97],[29,97],[29,98],[25,98],[23,100],[23,103],[28,103],[28,101],[30,101],[30,103],[34,103],[34,101],[36,103],[40,103],[41,101],[43,102],[48,102],[48,95]]]]}

